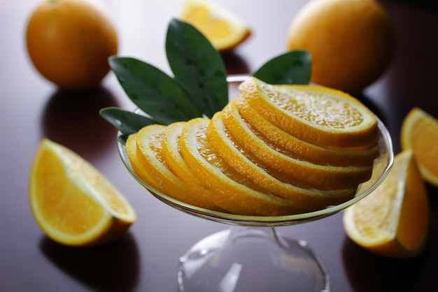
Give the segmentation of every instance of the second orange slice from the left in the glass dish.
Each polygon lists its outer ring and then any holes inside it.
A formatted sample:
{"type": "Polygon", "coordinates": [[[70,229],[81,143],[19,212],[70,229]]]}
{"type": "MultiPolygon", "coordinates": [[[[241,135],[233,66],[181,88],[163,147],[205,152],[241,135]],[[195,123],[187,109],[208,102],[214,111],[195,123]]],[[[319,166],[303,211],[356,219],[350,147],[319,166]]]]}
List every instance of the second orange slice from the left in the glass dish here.
{"type": "Polygon", "coordinates": [[[169,170],[167,161],[162,154],[162,140],[166,129],[166,126],[153,124],[143,127],[136,134],[136,159],[138,159],[143,172],[148,173],[144,176],[145,182],[157,191],[161,191],[176,200],[215,210],[216,205],[206,200],[202,194],[192,191],[187,184],[169,170]]]}

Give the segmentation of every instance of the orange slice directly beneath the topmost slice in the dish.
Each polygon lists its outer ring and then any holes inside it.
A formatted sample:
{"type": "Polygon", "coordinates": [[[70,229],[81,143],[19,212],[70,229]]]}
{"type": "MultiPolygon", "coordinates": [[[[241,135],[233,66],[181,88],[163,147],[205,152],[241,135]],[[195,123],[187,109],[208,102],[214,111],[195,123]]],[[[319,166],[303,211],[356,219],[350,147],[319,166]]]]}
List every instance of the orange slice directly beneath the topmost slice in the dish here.
{"type": "Polygon", "coordinates": [[[265,143],[282,147],[295,159],[309,161],[320,165],[332,166],[369,166],[379,156],[379,147],[365,149],[330,149],[319,147],[296,138],[272,124],[246,103],[242,95],[234,99],[239,114],[253,132],[265,143]],[[259,134],[260,133],[260,134],[259,134]]]}

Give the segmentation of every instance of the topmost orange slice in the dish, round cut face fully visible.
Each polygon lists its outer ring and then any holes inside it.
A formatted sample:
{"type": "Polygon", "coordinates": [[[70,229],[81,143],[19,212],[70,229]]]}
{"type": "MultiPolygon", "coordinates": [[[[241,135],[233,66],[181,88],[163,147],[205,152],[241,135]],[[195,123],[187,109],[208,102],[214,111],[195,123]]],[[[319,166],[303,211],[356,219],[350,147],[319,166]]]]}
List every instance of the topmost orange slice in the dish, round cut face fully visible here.
{"type": "Polygon", "coordinates": [[[300,140],[341,149],[377,143],[374,114],[344,92],[311,85],[274,86],[253,77],[239,89],[260,115],[300,140]]]}

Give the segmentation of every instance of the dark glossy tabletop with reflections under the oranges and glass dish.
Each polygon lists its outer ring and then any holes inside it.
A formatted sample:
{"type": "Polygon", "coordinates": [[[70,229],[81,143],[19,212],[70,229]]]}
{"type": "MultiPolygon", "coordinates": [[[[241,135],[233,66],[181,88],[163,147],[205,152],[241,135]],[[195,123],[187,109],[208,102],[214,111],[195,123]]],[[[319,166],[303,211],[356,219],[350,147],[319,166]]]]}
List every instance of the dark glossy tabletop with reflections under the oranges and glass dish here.
{"type": "MultiPolygon", "coordinates": [[[[120,55],[167,71],[164,37],[183,0],[105,2],[119,32],[120,55]]],[[[395,23],[397,52],[386,74],[359,96],[386,123],[395,153],[402,119],[412,107],[438,117],[438,10],[411,2],[417,4],[382,1],[395,23]]],[[[129,175],[118,156],[115,129],[98,115],[108,105],[133,108],[114,75],[97,92],[74,96],[57,92],[36,73],[24,46],[27,17],[36,3],[0,4],[0,291],[176,291],[179,256],[228,226],[174,210],[129,175]],[[90,249],[45,237],[31,215],[27,190],[43,137],[76,151],[127,196],[138,220],[126,235],[90,249]]],[[[248,73],[285,52],[288,25],[305,1],[220,3],[253,27],[253,36],[225,56],[229,73],[248,73]]],[[[416,259],[369,254],[347,238],[342,214],[278,232],[309,242],[327,266],[332,291],[438,291],[438,189],[428,186],[428,191],[430,239],[416,259]]]]}

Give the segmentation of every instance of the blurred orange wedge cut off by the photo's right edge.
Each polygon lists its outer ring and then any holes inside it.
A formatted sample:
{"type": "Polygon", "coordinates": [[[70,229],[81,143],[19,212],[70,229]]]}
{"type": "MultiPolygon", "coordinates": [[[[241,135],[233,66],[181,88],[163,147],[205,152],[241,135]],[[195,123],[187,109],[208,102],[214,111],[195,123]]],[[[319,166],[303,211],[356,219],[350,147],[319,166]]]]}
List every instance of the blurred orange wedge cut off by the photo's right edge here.
{"type": "Polygon", "coordinates": [[[402,149],[411,149],[423,179],[438,187],[438,119],[420,108],[404,118],[402,149]]]}

